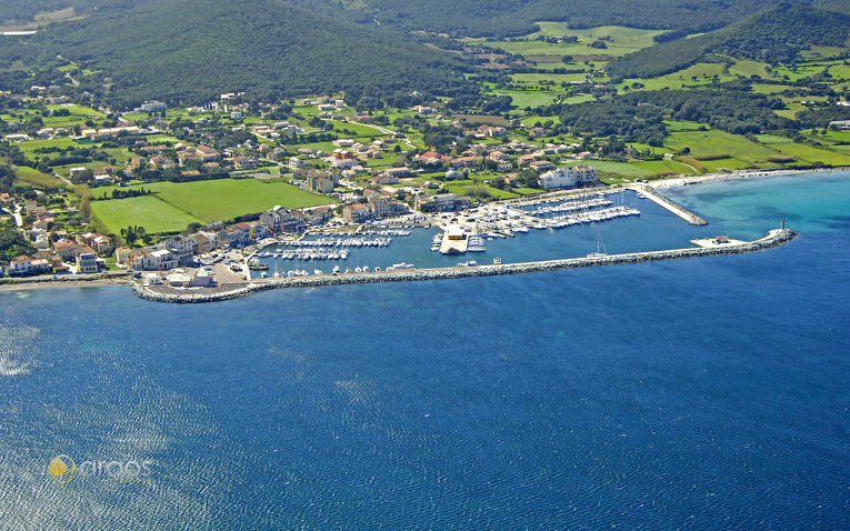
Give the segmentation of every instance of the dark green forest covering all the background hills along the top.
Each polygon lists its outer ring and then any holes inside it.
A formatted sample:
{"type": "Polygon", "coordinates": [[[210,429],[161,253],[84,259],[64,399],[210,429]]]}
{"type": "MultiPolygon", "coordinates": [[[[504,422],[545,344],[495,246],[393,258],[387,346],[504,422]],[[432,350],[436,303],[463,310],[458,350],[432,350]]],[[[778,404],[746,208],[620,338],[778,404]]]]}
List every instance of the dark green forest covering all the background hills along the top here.
{"type": "Polygon", "coordinates": [[[844,44],[850,27],[850,16],[811,7],[833,8],[832,0],[796,0],[763,12],[758,12],[763,7],[759,0],[643,0],[639,8],[627,0],[21,3],[0,0],[0,19],[28,19],[61,7],[74,7],[86,17],[52,24],[32,38],[6,40],[0,64],[21,60],[31,71],[0,69],[0,89],[21,92],[31,84],[66,83],[64,73],[56,70],[61,54],[100,72],[77,77],[80,86],[73,96],[89,91],[118,109],[146,99],[198,104],[238,90],[247,90],[252,100],[342,90],[349,103],[361,109],[411,104],[413,91],[424,98],[481,100],[467,76],[473,71],[471,63],[422,46],[416,40],[421,36],[400,31],[408,29],[506,36],[533,31],[539,20],[564,20],[572,27],[671,30],[657,46],[609,63],[608,73],[617,80],[673,72],[710,53],[788,63],[812,44],[844,44]],[[721,29],[682,38],[716,28],[721,29]]]}

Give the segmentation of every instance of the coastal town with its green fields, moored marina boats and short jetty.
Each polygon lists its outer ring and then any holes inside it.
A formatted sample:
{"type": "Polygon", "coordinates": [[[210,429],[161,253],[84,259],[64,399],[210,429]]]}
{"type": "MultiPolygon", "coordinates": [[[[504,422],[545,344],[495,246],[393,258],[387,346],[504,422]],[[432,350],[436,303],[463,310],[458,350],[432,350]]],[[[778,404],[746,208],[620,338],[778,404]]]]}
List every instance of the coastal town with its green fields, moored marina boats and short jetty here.
{"type": "Polygon", "coordinates": [[[10,243],[0,267],[10,281],[131,278],[212,289],[413,268],[349,266],[347,246],[367,232],[394,228],[403,237],[433,227],[441,232],[431,251],[474,253],[487,239],[640,216],[622,197],[609,199],[623,187],[706,223],[644,179],[600,176],[593,162],[603,147],[552,138],[550,122],[448,116],[433,102],[397,111],[390,128],[386,113],[357,112],[339,97],[263,106],[238,92],[203,107],[147,101],[116,113],[54,90],[0,94],[3,150],[19,182],[0,194],[10,243]],[[332,244],[282,252],[317,234],[332,236],[332,244]],[[281,252],[266,250],[273,246],[281,252]],[[269,271],[263,259],[278,257],[297,263],[269,271]],[[339,262],[308,269],[311,259],[339,262]]]}

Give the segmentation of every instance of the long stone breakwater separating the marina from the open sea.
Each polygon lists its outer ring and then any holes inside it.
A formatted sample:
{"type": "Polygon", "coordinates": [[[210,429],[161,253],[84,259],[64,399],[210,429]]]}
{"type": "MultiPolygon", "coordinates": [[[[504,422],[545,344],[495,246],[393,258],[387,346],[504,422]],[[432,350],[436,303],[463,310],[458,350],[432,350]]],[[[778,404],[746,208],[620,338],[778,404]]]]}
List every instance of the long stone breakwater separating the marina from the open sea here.
{"type": "Polygon", "coordinates": [[[370,273],[349,273],[340,275],[294,277],[286,279],[268,279],[251,283],[239,284],[230,289],[222,287],[214,290],[177,290],[170,288],[142,285],[134,282],[133,290],[142,299],[159,302],[197,303],[213,302],[246,297],[258,291],[282,288],[312,288],[320,285],[368,284],[377,282],[411,282],[420,280],[462,279],[468,277],[491,277],[496,274],[520,274],[560,269],[590,268],[599,266],[616,266],[623,263],[656,262],[661,260],[678,260],[683,258],[711,257],[718,254],[738,254],[754,252],[781,246],[797,237],[797,232],[787,229],[774,229],[760,240],[710,248],[671,249],[663,251],[631,252],[593,258],[568,258],[562,260],[546,260],[539,262],[520,262],[471,268],[411,269],[402,271],[382,271],[370,273]]]}

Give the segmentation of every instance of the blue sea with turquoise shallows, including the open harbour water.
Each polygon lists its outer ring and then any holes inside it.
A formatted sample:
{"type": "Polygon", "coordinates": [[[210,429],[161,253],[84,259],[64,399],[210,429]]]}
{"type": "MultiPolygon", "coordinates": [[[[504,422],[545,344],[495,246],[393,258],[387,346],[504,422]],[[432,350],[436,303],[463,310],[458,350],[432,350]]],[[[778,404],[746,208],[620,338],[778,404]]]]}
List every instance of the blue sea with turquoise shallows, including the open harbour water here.
{"type": "Polygon", "coordinates": [[[641,201],[492,252],[800,236],[199,305],[0,293],[0,529],[847,529],[850,173],[666,193],[710,224],[641,201]]]}

